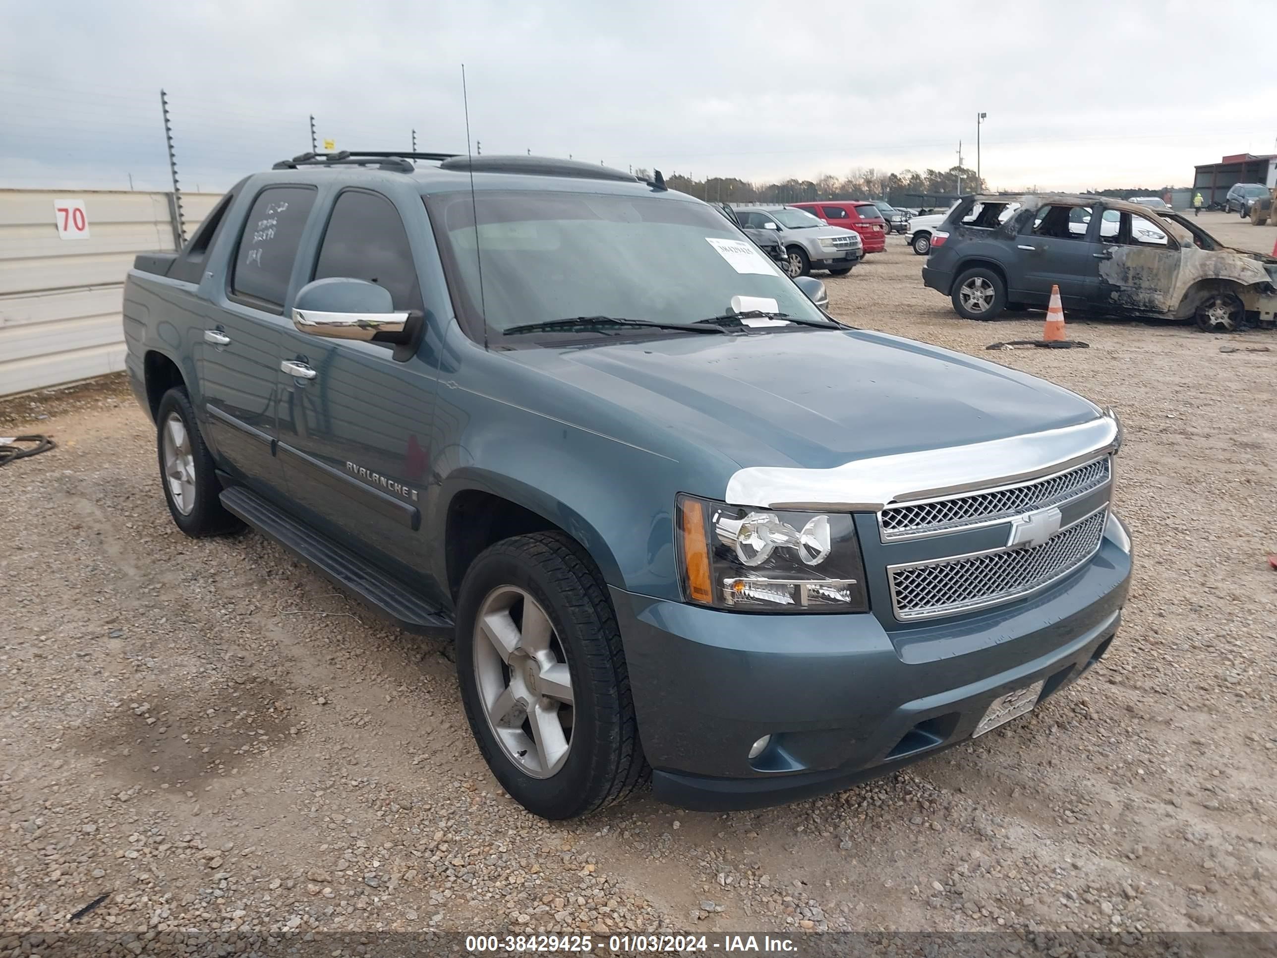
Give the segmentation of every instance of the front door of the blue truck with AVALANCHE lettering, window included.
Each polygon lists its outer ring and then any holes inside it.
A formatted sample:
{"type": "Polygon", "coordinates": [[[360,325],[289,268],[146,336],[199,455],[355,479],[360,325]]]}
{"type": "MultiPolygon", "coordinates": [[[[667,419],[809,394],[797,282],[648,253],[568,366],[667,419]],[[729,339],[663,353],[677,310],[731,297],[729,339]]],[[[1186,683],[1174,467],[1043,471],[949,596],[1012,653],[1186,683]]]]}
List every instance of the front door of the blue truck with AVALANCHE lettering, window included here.
{"type": "MultiPolygon", "coordinates": [[[[416,203],[405,212],[420,220],[419,248],[387,195],[363,188],[338,193],[303,282],[337,276],[375,282],[396,310],[423,312],[435,328],[447,308],[423,301],[416,258],[437,253],[433,240],[423,239],[427,215],[419,197],[416,203]]],[[[430,531],[421,522],[437,354],[295,327],[285,332],[283,354],[313,372],[281,377],[278,452],[292,507],[329,538],[442,598],[424,576],[421,545],[430,531]]]]}

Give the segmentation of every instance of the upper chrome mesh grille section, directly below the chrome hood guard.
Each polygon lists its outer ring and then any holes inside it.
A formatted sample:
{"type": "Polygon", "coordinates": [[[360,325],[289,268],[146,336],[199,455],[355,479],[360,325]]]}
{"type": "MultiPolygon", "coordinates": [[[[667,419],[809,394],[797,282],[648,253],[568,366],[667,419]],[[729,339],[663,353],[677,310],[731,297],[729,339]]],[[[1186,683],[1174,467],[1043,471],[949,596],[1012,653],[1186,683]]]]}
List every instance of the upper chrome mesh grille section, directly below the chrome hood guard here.
{"type": "Polygon", "coordinates": [[[1105,485],[1111,475],[1110,457],[1034,479],[1019,485],[982,489],[935,502],[905,502],[879,513],[882,542],[921,539],[979,525],[1005,522],[1013,516],[1062,506],[1105,485]]]}

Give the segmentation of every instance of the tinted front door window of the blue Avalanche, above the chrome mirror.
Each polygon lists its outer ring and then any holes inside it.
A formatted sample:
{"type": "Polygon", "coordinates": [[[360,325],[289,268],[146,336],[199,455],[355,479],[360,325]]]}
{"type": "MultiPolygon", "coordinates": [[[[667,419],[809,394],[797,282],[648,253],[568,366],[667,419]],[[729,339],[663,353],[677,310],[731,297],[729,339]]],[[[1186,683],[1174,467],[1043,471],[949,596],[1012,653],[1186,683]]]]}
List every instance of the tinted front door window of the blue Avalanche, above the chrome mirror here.
{"type": "Polygon", "coordinates": [[[375,193],[346,190],[332,208],[312,278],[347,276],[389,290],[396,309],[420,309],[421,286],[395,206],[375,193]]]}

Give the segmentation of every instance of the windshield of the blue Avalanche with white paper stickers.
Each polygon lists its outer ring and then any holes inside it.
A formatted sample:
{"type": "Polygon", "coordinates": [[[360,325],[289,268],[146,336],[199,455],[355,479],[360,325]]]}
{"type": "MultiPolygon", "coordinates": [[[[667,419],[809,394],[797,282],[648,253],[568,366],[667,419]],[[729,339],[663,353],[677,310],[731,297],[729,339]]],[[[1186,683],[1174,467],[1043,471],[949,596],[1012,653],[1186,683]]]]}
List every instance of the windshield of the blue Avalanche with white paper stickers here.
{"type": "Polygon", "coordinates": [[[472,201],[437,194],[427,206],[462,308],[492,331],[582,316],[686,324],[728,314],[733,296],[752,309],[824,319],[765,253],[702,203],[511,190],[472,201]]]}

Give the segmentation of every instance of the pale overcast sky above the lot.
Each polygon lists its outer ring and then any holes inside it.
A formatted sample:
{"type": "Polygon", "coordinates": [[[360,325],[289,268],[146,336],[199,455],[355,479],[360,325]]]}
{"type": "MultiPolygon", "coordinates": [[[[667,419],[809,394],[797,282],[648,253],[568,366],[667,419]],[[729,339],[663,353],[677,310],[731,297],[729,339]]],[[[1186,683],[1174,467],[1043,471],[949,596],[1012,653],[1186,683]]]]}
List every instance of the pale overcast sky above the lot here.
{"type": "Polygon", "coordinates": [[[308,149],[518,152],[750,180],[946,169],[1189,185],[1277,152],[1255,3],[0,0],[0,185],[184,189],[308,149]],[[1254,47],[1254,52],[1250,52],[1254,47]]]}

